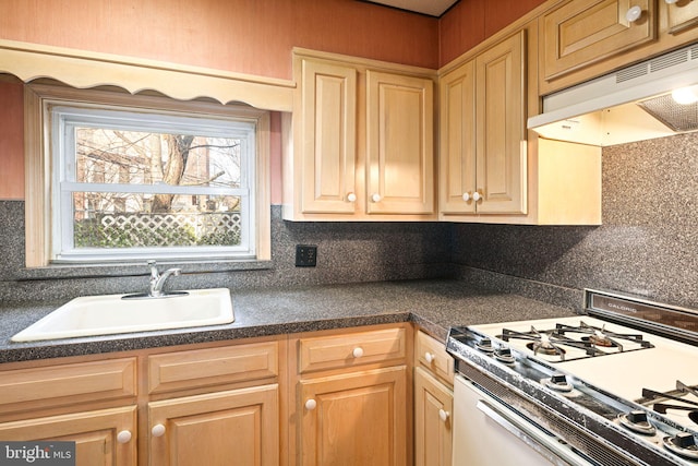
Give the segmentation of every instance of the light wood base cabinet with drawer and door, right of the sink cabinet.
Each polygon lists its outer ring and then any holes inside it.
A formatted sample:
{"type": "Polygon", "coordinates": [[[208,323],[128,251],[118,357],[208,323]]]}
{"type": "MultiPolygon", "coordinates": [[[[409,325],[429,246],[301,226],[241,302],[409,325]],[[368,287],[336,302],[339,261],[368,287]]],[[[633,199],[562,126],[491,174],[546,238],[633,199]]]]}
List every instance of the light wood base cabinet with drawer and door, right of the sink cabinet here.
{"type": "Polygon", "coordinates": [[[290,360],[296,371],[291,464],[411,464],[411,335],[410,325],[396,324],[290,340],[297,354],[290,360]]]}

